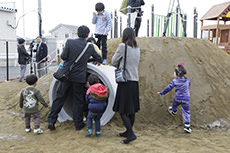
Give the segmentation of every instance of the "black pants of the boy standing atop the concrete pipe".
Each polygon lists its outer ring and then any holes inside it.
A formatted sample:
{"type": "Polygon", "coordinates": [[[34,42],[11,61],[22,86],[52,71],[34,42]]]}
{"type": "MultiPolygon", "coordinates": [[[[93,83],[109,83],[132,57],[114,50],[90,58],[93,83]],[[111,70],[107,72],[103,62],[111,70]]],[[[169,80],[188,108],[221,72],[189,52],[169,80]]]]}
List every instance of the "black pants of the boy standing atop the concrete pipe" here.
{"type": "Polygon", "coordinates": [[[97,35],[97,46],[99,49],[101,49],[102,46],[102,58],[107,58],[107,35],[97,35]]]}

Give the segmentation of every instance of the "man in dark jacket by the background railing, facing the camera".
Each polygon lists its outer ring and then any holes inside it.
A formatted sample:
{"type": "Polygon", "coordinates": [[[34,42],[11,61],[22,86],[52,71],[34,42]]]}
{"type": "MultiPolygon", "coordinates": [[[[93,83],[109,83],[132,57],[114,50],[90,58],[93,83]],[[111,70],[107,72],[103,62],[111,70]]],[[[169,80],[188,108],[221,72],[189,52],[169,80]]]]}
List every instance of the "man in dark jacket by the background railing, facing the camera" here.
{"type": "Polygon", "coordinates": [[[36,62],[39,78],[47,73],[47,45],[42,41],[42,38],[38,36],[37,38],[37,48],[36,52],[36,62]]]}

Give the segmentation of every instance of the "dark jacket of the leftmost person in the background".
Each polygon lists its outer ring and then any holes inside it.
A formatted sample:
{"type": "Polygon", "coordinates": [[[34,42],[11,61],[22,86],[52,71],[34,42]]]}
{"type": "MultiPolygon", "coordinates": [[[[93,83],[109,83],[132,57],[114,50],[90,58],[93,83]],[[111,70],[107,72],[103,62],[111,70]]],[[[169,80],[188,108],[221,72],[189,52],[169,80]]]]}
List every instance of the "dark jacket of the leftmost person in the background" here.
{"type": "Polygon", "coordinates": [[[23,44],[18,45],[18,64],[26,64],[30,55],[26,52],[25,46],[23,44]]]}

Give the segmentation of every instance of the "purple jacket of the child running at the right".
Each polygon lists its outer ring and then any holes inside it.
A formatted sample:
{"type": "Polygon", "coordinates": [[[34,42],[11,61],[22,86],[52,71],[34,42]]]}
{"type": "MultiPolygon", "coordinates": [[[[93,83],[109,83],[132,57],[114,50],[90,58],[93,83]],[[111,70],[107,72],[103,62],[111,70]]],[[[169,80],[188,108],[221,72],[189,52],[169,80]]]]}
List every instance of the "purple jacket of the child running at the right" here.
{"type": "Polygon", "coordinates": [[[172,80],[172,82],[160,92],[161,95],[165,95],[169,91],[171,91],[175,87],[175,93],[176,96],[175,98],[178,99],[189,99],[190,98],[190,93],[189,93],[189,86],[191,85],[191,82],[189,81],[188,78],[185,77],[177,77],[172,80]]]}

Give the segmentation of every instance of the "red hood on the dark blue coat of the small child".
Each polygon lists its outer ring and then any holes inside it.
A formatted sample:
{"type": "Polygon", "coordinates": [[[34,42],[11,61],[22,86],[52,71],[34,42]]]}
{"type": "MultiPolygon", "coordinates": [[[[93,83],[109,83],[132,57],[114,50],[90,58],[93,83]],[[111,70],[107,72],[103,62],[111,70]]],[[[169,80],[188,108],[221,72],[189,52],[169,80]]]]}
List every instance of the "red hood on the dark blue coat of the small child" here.
{"type": "Polygon", "coordinates": [[[86,94],[88,95],[88,94],[90,94],[90,92],[92,92],[92,93],[94,93],[100,97],[107,95],[107,89],[101,83],[96,83],[96,84],[90,86],[89,89],[87,90],[86,94]]]}

